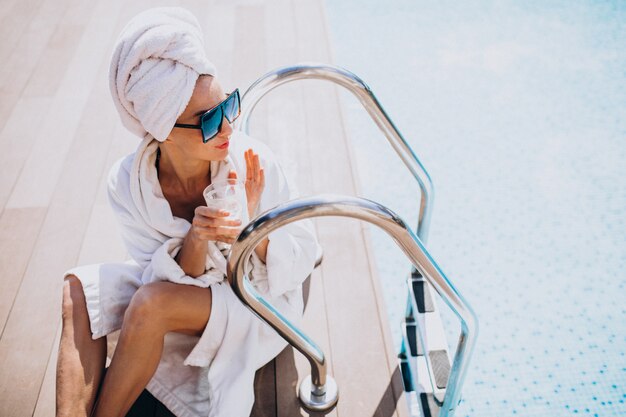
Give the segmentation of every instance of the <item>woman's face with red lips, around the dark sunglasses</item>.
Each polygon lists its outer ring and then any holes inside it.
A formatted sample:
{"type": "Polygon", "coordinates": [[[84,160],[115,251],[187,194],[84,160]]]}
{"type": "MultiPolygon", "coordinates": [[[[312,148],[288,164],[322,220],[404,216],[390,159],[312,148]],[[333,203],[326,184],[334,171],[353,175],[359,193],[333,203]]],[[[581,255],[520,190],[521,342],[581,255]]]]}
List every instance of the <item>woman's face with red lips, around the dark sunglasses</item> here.
{"type": "MultiPolygon", "coordinates": [[[[210,75],[201,75],[191,95],[187,108],[180,115],[176,123],[200,124],[200,116],[207,110],[215,107],[227,97],[222,86],[210,75]]],[[[165,140],[168,147],[176,148],[187,160],[200,159],[205,161],[221,161],[228,155],[228,142],[233,128],[224,117],[222,128],[216,136],[207,143],[202,142],[200,129],[185,129],[175,127],[165,140]]]]}

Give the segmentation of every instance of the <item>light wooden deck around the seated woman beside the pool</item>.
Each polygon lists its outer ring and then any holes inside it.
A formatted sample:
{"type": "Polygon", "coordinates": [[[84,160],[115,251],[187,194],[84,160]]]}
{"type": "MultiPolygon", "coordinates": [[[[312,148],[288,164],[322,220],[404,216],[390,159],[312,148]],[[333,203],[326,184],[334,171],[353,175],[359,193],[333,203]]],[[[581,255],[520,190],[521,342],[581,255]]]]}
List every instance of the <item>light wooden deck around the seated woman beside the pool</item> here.
{"type": "MultiPolygon", "coordinates": [[[[62,274],[126,257],[104,179],[138,139],[108,90],[113,42],[153,5],[177,4],[203,24],[225,90],[303,61],[332,63],[322,0],[91,2],[3,0],[0,7],[0,415],[54,415],[62,274]]],[[[337,88],[280,87],[252,120],[302,195],[358,195],[337,88]]],[[[367,230],[316,220],[325,258],[311,279],[304,329],[339,384],[331,416],[406,416],[402,381],[372,267],[367,230]],[[341,231],[341,232],[339,232],[341,231]]],[[[310,415],[296,398],[310,372],[292,348],[257,374],[255,416],[310,415]]]]}

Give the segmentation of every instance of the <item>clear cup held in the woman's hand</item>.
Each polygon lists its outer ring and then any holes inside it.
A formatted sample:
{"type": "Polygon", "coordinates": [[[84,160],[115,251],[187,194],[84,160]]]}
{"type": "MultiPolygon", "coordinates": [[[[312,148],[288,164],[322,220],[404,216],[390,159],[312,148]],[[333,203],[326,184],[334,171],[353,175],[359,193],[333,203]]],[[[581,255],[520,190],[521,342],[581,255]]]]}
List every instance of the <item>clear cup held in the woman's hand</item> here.
{"type": "Polygon", "coordinates": [[[226,210],[230,213],[227,219],[239,219],[241,225],[248,224],[248,199],[243,182],[229,179],[216,181],[203,191],[207,207],[226,210]]]}

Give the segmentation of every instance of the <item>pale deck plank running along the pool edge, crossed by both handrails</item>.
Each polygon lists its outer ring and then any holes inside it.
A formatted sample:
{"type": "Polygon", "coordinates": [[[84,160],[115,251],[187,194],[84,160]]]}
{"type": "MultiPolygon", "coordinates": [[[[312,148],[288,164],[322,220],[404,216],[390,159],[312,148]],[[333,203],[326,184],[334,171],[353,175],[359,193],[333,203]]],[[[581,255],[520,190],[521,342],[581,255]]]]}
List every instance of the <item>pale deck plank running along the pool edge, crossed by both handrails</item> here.
{"type": "MultiPolygon", "coordinates": [[[[301,61],[328,62],[331,58],[328,42],[320,41],[327,40],[324,28],[308,24],[323,19],[319,2],[300,3],[296,8],[298,36],[302,38],[301,61]]],[[[314,162],[316,191],[354,195],[358,187],[339,117],[337,88],[321,82],[310,84],[316,85],[305,86],[307,142],[314,162]]],[[[377,296],[372,286],[362,226],[356,221],[336,218],[323,219],[319,224],[318,232],[325,248],[322,274],[328,316],[342,317],[329,322],[335,377],[340,391],[344,387],[338,414],[396,415],[393,374],[387,362],[387,350],[391,347],[385,346],[381,332],[381,327],[388,324],[381,321],[379,314],[378,298],[382,297],[377,296]],[[351,250],[345,251],[347,247],[351,250]],[[348,385],[348,381],[364,383],[348,385]]]]}

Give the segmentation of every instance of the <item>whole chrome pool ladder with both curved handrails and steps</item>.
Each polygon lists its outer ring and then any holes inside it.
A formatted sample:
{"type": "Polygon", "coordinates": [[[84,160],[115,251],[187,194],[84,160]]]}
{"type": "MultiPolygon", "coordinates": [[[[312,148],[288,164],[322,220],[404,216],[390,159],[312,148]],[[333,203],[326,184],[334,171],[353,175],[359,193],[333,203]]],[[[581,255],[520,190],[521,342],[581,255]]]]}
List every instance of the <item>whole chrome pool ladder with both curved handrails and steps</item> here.
{"type": "Polygon", "coordinates": [[[265,74],[248,88],[235,127],[249,133],[249,118],[259,100],[279,85],[300,79],[327,80],[341,85],[361,102],[419,184],[421,198],[417,229],[413,232],[391,210],[362,198],[329,194],[292,200],[254,219],[233,244],[229,256],[233,289],[244,304],[309,360],[311,375],[300,383],[300,401],[310,410],[327,410],[338,400],[338,387],[327,374],[324,353],[255,291],[247,278],[247,260],[265,236],[297,220],[343,216],[382,228],[413,264],[407,279],[407,307],[398,354],[409,410],[412,416],[453,416],[476,343],[478,320],[424,246],[432,212],[432,181],[370,88],[350,71],[332,65],[301,63],[281,67],[265,74]],[[433,289],[460,319],[461,334],[452,364],[433,289]]]}

